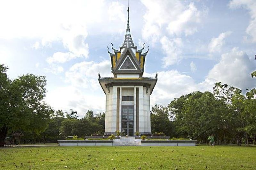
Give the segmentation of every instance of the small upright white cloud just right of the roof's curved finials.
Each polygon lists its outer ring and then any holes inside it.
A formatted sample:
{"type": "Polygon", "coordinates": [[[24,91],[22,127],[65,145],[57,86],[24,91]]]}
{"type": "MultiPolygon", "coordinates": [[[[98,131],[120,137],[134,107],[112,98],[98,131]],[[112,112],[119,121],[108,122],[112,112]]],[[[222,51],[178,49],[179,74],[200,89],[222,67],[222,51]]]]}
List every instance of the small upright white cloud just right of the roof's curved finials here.
{"type": "Polygon", "coordinates": [[[182,40],[181,38],[168,39],[166,36],[162,37],[160,40],[162,48],[166,56],[163,60],[163,67],[166,68],[172,64],[179,63],[182,59],[181,47],[182,40]]]}

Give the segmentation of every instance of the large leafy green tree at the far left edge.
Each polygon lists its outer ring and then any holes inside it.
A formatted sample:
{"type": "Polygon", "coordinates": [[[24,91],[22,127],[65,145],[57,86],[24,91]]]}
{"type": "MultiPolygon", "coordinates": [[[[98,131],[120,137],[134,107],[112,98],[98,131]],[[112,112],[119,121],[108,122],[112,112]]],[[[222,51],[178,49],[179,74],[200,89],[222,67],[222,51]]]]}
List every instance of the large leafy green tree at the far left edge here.
{"type": "Polygon", "coordinates": [[[45,77],[27,74],[11,81],[6,70],[0,65],[0,146],[9,130],[44,131],[53,112],[43,102],[45,77]]]}

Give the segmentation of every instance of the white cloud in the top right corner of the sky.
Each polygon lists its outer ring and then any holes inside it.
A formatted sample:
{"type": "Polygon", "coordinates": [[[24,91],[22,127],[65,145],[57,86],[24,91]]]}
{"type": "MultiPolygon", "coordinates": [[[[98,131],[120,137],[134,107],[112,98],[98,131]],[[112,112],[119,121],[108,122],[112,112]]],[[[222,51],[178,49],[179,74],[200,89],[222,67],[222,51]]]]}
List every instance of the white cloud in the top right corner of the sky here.
{"type": "MultiPolygon", "coordinates": [[[[251,36],[251,41],[256,42],[256,1],[255,0],[232,0],[229,2],[229,7],[231,9],[239,8],[239,7],[244,7],[246,8],[250,15],[251,15],[251,20],[249,23],[249,26],[246,28],[246,33],[251,36]]],[[[246,38],[248,39],[248,38],[246,38]]]]}

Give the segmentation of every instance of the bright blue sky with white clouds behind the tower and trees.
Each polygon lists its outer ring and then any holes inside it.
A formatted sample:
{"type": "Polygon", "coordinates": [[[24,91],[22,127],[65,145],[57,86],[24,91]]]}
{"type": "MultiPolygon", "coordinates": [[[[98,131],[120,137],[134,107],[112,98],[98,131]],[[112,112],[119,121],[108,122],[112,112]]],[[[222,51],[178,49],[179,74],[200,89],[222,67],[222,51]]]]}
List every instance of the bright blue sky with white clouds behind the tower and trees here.
{"type": "MultiPolygon", "coordinates": [[[[221,81],[255,87],[255,0],[130,0],[130,28],[149,53],[145,77],[158,81],[151,105],[167,105],[221,81]]],[[[0,63],[10,78],[46,76],[45,101],[54,109],[105,111],[98,82],[111,75],[107,46],[124,41],[127,0],[1,1],[0,63]]]]}

